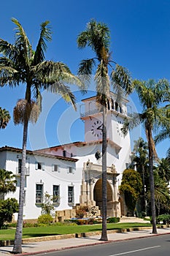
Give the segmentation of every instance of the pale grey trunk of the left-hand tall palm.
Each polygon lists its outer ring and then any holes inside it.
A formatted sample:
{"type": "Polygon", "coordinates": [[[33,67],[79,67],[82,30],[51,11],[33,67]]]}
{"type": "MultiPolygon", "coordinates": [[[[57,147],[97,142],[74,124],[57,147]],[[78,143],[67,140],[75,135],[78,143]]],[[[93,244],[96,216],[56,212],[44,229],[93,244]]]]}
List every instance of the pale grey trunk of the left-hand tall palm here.
{"type": "Polygon", "coordinates": [[[28,133],[28,121],[23,124],[23,151],[22,151],[22,165],[20,173],[20,195],[19,195],[19,212],[18,222],[15,232],[15,241],[13,246],[13,253],[22,253],[22,235],[23,235],[23,203],[24,203],[24,187],[25,187],[25,169],[26,169],[26,144],[28,133]]]}

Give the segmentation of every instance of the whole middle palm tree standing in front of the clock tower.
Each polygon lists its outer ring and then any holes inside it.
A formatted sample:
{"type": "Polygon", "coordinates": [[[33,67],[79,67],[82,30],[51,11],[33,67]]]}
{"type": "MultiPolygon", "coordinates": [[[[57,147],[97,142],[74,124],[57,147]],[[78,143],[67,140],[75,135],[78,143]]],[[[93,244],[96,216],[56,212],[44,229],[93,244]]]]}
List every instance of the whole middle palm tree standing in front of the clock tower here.
{"type": "MultiPolygon", "coordinates": [[[[102,129],[102,233],[100,240],[107,240],[107,102],[110,99],[110,84],[114,86],[120,96],[120,91],[125,89],[131,92],[131,78],[127,70],[119,65],[115,69],[109,53],[110,32],[104,23],[90,20],[85,31],[77,37],[77,45],[80,49],[90,47],[96,54],[94,58],[84,59],[80,62],[78,75],[85,84],[90,83],[93,69],[97,64],[95,82],[97,97],[96,101],[103,114],[102,129]],[[112,72],[109,79],[109,67],[112,72]]],[[[120,99],[120,97],[119,97],[120,99]]]]}

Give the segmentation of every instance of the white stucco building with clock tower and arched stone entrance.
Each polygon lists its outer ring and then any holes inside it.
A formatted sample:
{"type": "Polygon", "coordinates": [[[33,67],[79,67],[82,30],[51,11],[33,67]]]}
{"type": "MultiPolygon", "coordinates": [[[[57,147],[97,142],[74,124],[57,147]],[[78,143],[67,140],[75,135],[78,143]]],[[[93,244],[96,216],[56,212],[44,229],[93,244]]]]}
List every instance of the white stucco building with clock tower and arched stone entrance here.
{"type": "MultiPolygon", "coordinates": [[[[111,93],[111,97],[107,113],[107,215],[120,217],[124,209],[118,186],[131,156],[130,136],[124,138],[120,131],[128,100],[118,105],[116,95],[111,93]]],[[[45,192],[58,195],[55,211],[72,209],[79,203],[101,209],[102,114],[96,97],[82,102],[85,111],[80,118],[85,124],[85,141],[27,151],[24,219],[39,217],[45,192]]],[[[20,166],[20,148],[0,148],[0,168],[15,173],[18,181],[17,191],[5,197],[19,197],[20,166]]]]}

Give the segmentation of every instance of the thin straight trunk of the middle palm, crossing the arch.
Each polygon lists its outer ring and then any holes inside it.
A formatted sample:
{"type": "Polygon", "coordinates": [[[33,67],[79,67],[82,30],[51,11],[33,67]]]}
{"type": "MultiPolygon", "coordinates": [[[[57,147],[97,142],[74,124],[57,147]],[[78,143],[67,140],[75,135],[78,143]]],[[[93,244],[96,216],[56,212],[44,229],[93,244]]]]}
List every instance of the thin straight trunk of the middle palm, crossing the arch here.
{"type": "Polygon", "coordinates": [[[107,241],[107,108],[103,106],[102,138],[102,241],[107,241]]]}

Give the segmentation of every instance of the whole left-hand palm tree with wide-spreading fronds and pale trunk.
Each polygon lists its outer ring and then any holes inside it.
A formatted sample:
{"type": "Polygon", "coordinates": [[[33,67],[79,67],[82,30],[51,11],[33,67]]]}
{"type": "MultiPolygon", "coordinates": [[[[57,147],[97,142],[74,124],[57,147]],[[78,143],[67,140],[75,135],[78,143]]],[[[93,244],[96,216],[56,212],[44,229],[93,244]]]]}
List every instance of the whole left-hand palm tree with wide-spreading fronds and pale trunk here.
{"type": "Polygon", "coordinates": [[[63,99],[71,102],[75,108],[75,98],[66,84],[81,85],[80,80],[72,75],[69,67],[62,62],[45,61],[46,42],[51,40],[49,21],[41,24],[39,41],[34,51],[26,36],[26,32],[19,21],[12,18],[15,23],[15,44],[12,45],[0,39],[0,86],[26,85],[25,99],[20,99],[14,109],[15,124],[23,124],[23,151],[20,173],[20,196],[18,225],[15,233],[14,253],[22,252],[23,230],[23,200],[26,166],[26,144],[28,122],[36,121],[41,110],[41,91],[47,89],[55,94],[61,94],[63,99]],[[34,97],[34,99],[32,99],[34,97]]]}

